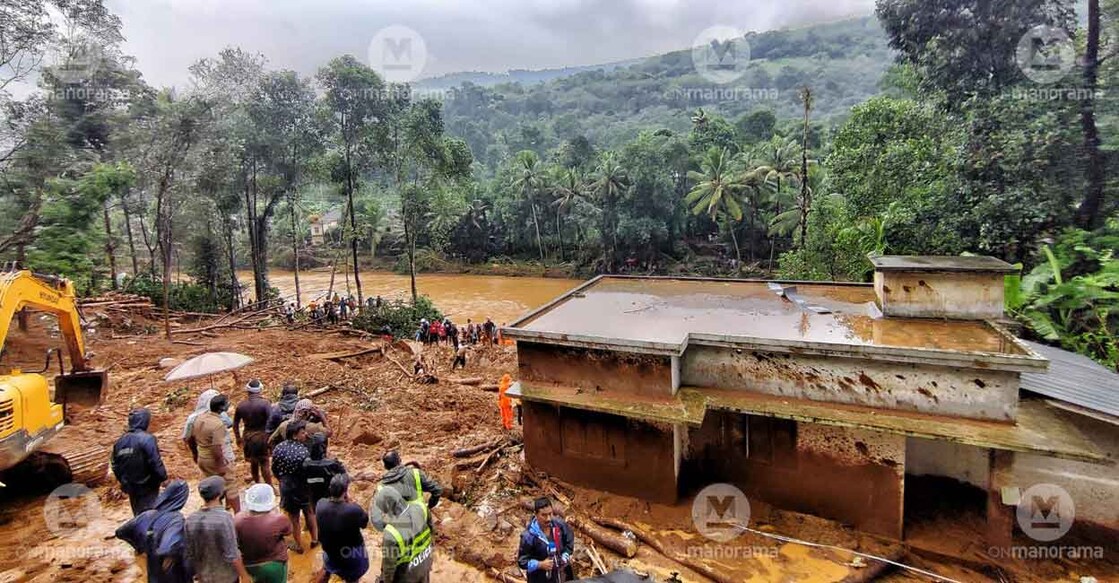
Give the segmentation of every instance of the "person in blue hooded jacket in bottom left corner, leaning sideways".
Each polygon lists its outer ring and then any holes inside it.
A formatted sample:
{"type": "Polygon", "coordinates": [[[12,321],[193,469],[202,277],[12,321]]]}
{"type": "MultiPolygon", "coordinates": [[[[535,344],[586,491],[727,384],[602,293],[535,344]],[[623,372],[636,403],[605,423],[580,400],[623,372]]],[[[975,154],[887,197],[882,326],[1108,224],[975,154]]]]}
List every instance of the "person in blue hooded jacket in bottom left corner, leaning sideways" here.
{"type": "Polygon", "coordinates": [[[182,507],[190,497],[190,487],[175,480],[156,498],[151,510],[144,510],[116,529],[124,540],[147,562],[148,583],[190,583],[194,571],[186,560],[186,521],[182,507]]]}

